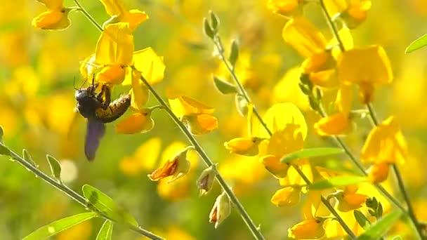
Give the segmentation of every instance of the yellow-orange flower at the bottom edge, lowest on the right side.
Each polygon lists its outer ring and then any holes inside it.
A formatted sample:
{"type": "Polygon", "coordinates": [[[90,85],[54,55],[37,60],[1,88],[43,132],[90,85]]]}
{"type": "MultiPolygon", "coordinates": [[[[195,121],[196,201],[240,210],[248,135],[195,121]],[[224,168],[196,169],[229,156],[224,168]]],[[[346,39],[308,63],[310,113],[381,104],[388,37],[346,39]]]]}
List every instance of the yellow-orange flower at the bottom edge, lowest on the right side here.
{"type": "Polygon", "coordinates": [[[292,239],[320,239],[324,236],[324,218],[310,218],[297,223],[288,229],[288,237],[292,239]]]}

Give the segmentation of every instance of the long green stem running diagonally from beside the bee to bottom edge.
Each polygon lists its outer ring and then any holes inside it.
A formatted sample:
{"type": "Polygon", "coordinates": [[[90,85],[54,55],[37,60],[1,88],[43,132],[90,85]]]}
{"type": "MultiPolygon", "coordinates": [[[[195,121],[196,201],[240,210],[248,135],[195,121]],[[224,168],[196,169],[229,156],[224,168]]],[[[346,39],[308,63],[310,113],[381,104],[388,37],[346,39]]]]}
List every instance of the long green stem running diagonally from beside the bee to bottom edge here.
{"type": "MultiPolygon", "coordinates": [[[[144,82],[144,84],[147,86],[148,90],[152,95],[155,96],[157,102],[159,102],[160,105],[164,106],[164,109],[169,114],[171,119],[175,122],[175,124],[180,128],[180,130],[184,133],[185,137],[188,138],[190,143],[193,147],[195,147],[195,150],[197,153],[199,153],[200,157],[203,159],[206,166],[211,167],[214,166],[211,159],[209,159],[209,156],[204,152],[204,149],[199,145],[199,142],[197,142],[196,138],[188,131],[188,128],[185,127],[182,121],[178,119],[178,117],[173,114],[172,109],[164,102],[162,97],[155,91],[154,88],[152,88],[151,84],[141,75],[140,79],[144,82]]],[[[213,168],[214,171],[216,171],[216,168],[213,168]]],[[[232,189],[227,185],[227,182],[223,179],[223,177],[216,171],[215,175],[216,180],[218,180],[219,185],[223,188],[224,192],[228,195],[230,198],[230,201],[232,201],[232,204],[237,208],[237,211],[239,212],[240,216],[243,218],[244,222],[246,223],[249,230],[251,230],[252,234],[254,235],[255,239],[264,239],[263,234],[261,234],[261,231],[258,227],[256,227],[254,221],[249,217],[249,214],[244,209],[243,205],[240,203],[239,199],[237,199],[237,196],[232,192],[232,189]]]]}

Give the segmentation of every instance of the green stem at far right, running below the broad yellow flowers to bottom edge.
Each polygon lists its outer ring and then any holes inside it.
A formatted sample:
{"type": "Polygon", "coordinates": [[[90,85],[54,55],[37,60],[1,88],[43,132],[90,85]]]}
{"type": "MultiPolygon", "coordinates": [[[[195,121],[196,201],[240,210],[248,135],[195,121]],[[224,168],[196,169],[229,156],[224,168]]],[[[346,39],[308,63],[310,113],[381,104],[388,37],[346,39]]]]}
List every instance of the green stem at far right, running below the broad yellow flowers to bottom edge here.
{"type": "MultiPolygon", "coordinates": [[[[371,116],[372,123],[374,124],[374,126],[378,126],[379,121],[376,117],[375,110],[371,102],[367,103],[367,109],[369,110],[369,116],[371,116]]],[[[407,193],[405,184],[403,183],[402,174],[400,174],[399,168],[398,166],[396,166],[396,164],[391,164],[391,166],[393,168],[393,172],[395,173],[396,179],[398,180],[400,192],[402,192],[403,198],[405,199],[408,208],[407,213],[409,215],[409,218],[411,218],[412,224],[414,224],[416,232],[418,233],[420,239],[425,239],[426,237],[423,235],[421,225],[419,224],[418,220],[416,220],[414,208],[412,208],[411,200],[409,199],[409,194],[407,193]]]]}

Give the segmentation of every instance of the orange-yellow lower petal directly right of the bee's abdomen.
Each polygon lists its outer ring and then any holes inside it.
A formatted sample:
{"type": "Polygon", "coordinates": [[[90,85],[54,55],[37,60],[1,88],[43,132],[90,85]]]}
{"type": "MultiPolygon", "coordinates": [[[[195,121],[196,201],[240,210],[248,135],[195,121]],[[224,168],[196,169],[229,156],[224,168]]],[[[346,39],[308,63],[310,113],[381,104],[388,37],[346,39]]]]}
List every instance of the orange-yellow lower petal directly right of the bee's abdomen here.
{"type": "Polygon", "coordinates": [[[116,125],[116,132],[122,134],[146,133],[154,127],[155,123],[151,119],[151,112],[145,111],[132,114],[116,125]]]}

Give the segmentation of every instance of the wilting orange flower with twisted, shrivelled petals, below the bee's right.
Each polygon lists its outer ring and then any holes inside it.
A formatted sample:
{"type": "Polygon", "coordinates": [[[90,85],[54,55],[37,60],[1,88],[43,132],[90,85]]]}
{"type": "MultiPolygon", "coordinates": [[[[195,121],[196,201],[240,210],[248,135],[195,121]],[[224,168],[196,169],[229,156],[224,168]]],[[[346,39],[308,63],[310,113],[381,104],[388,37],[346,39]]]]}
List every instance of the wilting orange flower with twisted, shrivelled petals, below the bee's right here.
{"type": "Polygon", "coordinates": [[[163,178],[172,176],[168,182],[173,182],[178,178],[183,177],[190,171],[190,161],[187,159],[188,150],[193,147],[186,147],[181,152],[178,152],[172,159],[169,159],[160,168],[157,168],[154,172],[148,175],[148,178],[152,181],[158,181],[163,178]]]}

